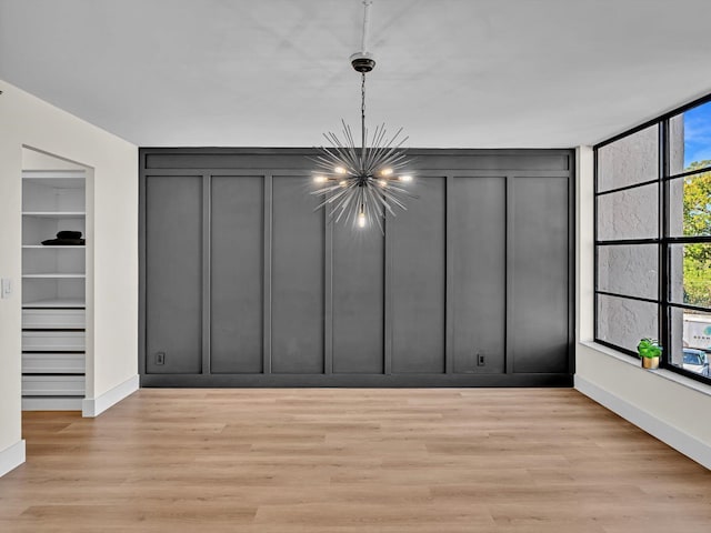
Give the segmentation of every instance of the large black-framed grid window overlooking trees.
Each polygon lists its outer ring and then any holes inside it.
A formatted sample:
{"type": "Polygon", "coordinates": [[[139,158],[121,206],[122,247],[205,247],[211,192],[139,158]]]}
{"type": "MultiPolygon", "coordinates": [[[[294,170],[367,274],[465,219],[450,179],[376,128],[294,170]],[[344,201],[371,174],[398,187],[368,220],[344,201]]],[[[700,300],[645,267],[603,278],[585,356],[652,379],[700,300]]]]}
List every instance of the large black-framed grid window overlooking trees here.
{"type": "Polygon", "coordinates": [[[595,341],[711,383],[711,95],[594,147],[595,341]]]}

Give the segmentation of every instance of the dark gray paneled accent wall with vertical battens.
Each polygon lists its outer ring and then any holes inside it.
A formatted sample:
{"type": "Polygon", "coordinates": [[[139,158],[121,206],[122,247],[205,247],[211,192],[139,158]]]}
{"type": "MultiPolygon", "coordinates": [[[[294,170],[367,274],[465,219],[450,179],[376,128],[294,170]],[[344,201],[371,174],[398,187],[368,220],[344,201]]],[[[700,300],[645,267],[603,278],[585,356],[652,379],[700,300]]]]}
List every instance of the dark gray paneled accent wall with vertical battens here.
{"type": "Polygon", "coordinates": [[[570,386],[573,152],[410,152],[383,235],[312,150],[141,149],[141,384],[570,386]]]}

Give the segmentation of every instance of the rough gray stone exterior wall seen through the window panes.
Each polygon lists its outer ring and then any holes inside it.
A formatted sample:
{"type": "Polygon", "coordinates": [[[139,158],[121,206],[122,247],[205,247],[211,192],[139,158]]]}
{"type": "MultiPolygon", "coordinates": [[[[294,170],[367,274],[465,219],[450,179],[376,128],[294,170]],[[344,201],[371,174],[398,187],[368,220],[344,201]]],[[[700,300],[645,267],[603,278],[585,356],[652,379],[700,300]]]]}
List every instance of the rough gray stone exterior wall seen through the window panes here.
{"type": "MultiPolygon", "coordinates": [[[[683,168],[683,118],[670,121],[670,137],[674,148],[671,155],[672,169],[683,168]]],[[[618,189],[659,175],[659,128],[652,125],[632,135],[615,141],[598,151],[598,190],[618,189]]],[[[683,180],[670,183],[670,201],[681,204],[683,180]]],[[[658,235],[659,198],[657,185],[644,185],[602,195],[598,200],[598,239],[648,239],[658,235]]],[[[670,230],[681,234],[682,210],[675,210],[677,218],[670,220],[670,230]]],[[[598,289],[632,296],[657,299],[659,295],[659,260],[657,245],[602,247],[598,249],[598,289]]],[[[671,257],[671,272],[675,279],[672,285],[681,289],[682,250],[677,249],[671,257]]],[[[598,338],[608,340],[629,350],[635,350],[643,336],[658,335],[658,308],[654,304],[633,300],[598,298],[598,338]]],[[[680,322],[681,314],[673,320],[680,322]]],[[[681,331],[682,323],[672,324],[673,331],[681,331]]],[[[675,340],[671,350],[672,362],[681,364],[681,342],[675,340]]]]}

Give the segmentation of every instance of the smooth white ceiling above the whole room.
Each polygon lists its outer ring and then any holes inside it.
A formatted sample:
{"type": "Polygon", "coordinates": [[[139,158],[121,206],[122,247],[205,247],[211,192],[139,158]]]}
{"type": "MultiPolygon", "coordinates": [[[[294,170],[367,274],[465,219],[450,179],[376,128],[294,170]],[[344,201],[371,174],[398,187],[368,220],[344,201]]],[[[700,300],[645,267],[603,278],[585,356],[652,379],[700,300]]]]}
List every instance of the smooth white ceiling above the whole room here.
{"type": "MultiPolygon", "coordinates": [[[[711,92],[710,0],[374,0],[368,120],[410,147],[593,143],[711,92]]],[[[360,0],[0,0],[0,79],[136,144],[356,124],[360,0]]]]}

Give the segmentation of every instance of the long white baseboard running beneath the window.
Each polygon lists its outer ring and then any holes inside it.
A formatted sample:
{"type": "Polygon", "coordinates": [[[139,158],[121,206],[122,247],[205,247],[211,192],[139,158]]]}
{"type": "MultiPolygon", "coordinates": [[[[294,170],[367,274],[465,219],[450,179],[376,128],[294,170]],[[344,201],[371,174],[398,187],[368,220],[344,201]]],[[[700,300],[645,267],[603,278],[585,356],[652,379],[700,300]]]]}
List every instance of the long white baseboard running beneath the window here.
{"type": "Polygon", "coordinates": [[[574,380],[575,389],[585,396],[711,470],[711,446],[708,444],[641,410],[637,405],[615,396],[584,378],[575,375],[574,380]]]}

